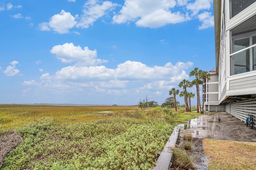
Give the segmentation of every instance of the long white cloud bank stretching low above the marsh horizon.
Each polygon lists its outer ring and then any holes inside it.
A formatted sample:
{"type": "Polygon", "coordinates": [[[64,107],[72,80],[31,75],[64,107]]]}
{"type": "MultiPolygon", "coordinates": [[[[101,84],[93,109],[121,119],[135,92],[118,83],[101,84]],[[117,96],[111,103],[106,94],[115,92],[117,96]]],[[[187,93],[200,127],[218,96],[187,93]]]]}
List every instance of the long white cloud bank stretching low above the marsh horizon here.
{"type": "MultiPolygon", "coordinates": [[[[175,65],[167,63],[164,66],[150,67],[146,64],[137,61],[126,61],[125,63],[118,64],[117,68],[107,68],[106,66],[67,66],[57,71],[55,75],[50,76],[49,73],[43,74],[41,80],[70,80],[70,81],[100,81],[112,82],[113,84],[122,84],[124,87],[128,86],[129,82],[147,82],[146,87],[151,89],[153,85],[149,82],[158,82],[167,80],[167,82],[174,82],[188,78],[184,71],[191,67],[193,63],[178,62],[175,65]],[[121,83],[122,82],[122,83],[121,83]]],[[[100,84],[103,87],[108,87],[106,84],[100,84]]]]}

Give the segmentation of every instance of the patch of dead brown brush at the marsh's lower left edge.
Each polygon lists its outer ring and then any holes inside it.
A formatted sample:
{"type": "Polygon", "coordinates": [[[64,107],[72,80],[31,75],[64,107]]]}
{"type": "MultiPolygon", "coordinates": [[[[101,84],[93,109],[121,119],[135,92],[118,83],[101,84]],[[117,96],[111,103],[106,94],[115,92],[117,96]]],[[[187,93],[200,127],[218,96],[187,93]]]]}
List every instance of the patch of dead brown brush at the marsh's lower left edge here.
{"type": "Polygon", "coordinates": [[[4,162],[5,156],[14,149],[23,138],[20,135],[17,135],[16,129],[13,133],[6,133],[0,137],[0,168],[4,162]]]}

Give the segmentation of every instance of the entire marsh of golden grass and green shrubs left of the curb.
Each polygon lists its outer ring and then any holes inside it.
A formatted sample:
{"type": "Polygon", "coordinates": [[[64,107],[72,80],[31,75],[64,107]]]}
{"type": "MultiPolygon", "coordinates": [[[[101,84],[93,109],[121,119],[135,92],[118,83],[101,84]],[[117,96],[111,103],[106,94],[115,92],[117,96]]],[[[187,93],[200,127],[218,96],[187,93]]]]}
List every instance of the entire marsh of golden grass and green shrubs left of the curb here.
{"type": "Polygon", "coordinates": [[[184,117],[160,107],[0,105],[1,137],[23,138],[1,169],[152,169],[174,121],[184,117]]]}

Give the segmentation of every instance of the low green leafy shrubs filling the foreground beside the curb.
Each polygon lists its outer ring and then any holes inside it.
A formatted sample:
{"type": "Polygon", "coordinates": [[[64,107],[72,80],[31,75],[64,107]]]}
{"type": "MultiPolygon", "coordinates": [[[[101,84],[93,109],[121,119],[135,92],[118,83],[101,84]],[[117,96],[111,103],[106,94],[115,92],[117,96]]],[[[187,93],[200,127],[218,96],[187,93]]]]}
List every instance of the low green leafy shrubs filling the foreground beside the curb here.
{"type": "Polygon", "coordinates": [[[161,109],[111,116],[70,123],[44,117],[18,127],[24,140],[6,156],[1,169],[152,169],[172,133],[172,116],[161,109]]]}

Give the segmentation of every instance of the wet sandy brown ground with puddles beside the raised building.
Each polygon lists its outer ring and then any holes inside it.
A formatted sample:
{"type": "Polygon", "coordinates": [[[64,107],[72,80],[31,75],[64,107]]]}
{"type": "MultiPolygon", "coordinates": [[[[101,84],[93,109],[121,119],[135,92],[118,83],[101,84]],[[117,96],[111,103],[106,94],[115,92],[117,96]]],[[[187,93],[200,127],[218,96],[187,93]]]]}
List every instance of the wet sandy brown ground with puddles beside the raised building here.
{"type": "Polygon", "coordinates": [[[202,138],[230,141],[256,142],[256,127],[246,126],[244,121],[226,112],[206,113],[180,125],[180,135],[191,133],[194,137],[194,154],[198,155],[197,170],[207,170],[208,162],[202,147],[202,138]]]}

